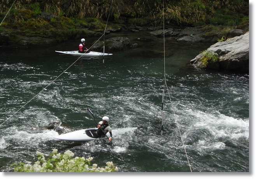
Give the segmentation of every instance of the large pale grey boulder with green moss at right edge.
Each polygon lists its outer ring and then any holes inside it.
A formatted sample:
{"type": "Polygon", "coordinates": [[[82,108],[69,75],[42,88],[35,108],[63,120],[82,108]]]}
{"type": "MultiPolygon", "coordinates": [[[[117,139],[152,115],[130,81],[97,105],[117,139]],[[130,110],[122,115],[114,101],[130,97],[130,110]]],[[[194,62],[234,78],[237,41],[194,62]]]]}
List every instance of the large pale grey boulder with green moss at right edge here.
{"type": "Polygon", "coordinates": [[[249,72],[249,32],[217,42],[190,63],[202,69],[249,72]]]}

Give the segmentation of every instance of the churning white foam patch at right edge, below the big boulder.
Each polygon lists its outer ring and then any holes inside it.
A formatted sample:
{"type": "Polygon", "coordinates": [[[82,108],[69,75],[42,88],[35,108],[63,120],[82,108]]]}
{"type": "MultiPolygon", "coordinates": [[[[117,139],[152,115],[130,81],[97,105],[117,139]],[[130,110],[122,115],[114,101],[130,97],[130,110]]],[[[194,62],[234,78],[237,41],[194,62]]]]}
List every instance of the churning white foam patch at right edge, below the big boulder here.
{"type": "Polygon", "coordinates": [[[199,153],[224,150],[226,142],[249,143],[249,119],[235,119],[218,111],[185,110],[182,138],[199,153]],[[186,128],[184,130],[184,128],[186,128]]]}

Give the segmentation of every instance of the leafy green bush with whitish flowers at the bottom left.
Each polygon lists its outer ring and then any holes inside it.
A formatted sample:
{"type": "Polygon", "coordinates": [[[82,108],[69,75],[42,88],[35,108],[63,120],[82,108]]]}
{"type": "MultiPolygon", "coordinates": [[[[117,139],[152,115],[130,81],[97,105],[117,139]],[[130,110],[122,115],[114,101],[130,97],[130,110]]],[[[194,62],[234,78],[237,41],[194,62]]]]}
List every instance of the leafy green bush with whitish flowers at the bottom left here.
{"type": "Polygon", "coordinates": [[[92,157],[75,157],[70,150],[65,153],[58,153],[53,150],[47,157],[37,151],[38,160],[35,164],[13,164],[14,172],[116,172],[117,167],[112,162],[107,162],[105,167],[98,167],[97,164],[91,164],[92,157]]]}

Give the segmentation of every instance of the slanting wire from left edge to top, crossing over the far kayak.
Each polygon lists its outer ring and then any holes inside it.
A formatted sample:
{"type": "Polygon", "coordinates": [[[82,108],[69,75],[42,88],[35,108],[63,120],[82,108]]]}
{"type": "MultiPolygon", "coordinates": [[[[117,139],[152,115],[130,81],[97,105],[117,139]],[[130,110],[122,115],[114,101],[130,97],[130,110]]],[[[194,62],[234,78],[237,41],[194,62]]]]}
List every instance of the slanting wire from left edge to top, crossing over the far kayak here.
{"type": "MultiPolygon", "coordinates": [[[[16,1],[16,0],[15,0],[16,1]]],[[[14,2],[15,2],[14,1],[14,2]]],[[[112,2],[113,2],[113,0],[112,0],[112,2]]],[[[14,4],[14,3],[13,3],[14,4]]],[[[12,5],[13,5],[12,4],[12,5]]],[[[111,7],[112,7],[112,3],[111,3],[111,6],[110,6],[110,10],[111,10],[111,7]]],[[[11,8],[10,8],[11,9],[11,8]]],[[[110,10],[109,10],[109,14],[110,14],[110,10]]],[[[10,10],[9,10],[10,11],[10,10]]],[[[8,12],[9,12],[8,11],[8,12]]],[[[7,12],[7,13],[8,13],[7,12]]],[[[6,16],[6,15],[5,15],[6,16]]],[[[107,18],[107,20],[109,20],[109,16],[108,16],[108,18],[107,18]]],[[[108,21],[107,21],[108,22],[108,21]]],[[[2,24],[2,23],[1,23],[2,24]]],[[[105,31],[106,31],[106,28],[107,28],[107,23],[106,23],[106,27],[105,27],[105,31]]],[[[102,34],[102,36],[104,36],[105,35],[105,31],[104,31],[104,33],[102,34]]],[[[100,36],[100,38],[102,38],[102,36],[100,36]]],[[[97,43],[99,40],[100,40],[100,38],[95,42],[95,43],[97,43]]],[[[105,39],[104,39],[104,41],[105,41],[105,39]]],[[[95,45],[95,43],[93,44],[93,45],[95,45]]],[[[90,50],[92,47],[93,47],[93,45],[88,49],[88,50],[90,50]]],[[[88,51],[87,50],[87,51],[88,51]]],[[[86,52],[87,52],[86,51],[86,52]]],[[[85,53],[86,53],[85,52],[85,53]]],[[[85,54],[85,53],[82,53],[82,55],[77,59],[77,60],[79,60],[79,59],[81,59],[81,57],[85,54]]],[[[31,98],[25,105],[23,105],[21,108],[19,108],[19,110],[17,110],[14,114],[12,114],[9,118],[7,118],[4,122],[2,122],[2,124],[0,124],[0,127],[7,121],[7,120],[9,120],[9,119],[11,119],[11,117],[12,116],[14,116],[15,114],[17,114],[23,107],[25,107],[28,103],[30,103],[36,96],[38,96],[40,93],[42,93],[42,91],[44,91],[44,90],[46,90],[46,88],[48,87],[48,86],[50,86],[54,81],[56,81],[56,79],[58,79],[63,73],[65,73],[72,65],[74,65],[76,62],[77,62],[77,60],[75,60],[75,62],[73,62],[67,69],[65,69],[59,76],[57,76],[53,81],[51,81],[51,83],[49,83],[46,87],[44,87],[39,93],[37,93],[33,98],[31,98]]]]}

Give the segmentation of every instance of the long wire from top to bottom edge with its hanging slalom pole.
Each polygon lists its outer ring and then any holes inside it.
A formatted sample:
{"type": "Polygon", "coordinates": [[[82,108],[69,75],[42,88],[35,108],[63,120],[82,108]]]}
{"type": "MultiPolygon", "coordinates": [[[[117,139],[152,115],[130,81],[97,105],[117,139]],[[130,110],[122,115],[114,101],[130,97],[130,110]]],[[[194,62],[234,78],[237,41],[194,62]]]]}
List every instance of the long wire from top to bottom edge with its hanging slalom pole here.
{"type": "Polygon", "coordinates": [[[180,130],[180,128],[179,128],[179,122],[178,122],[177,117],[176,117],[176,115],[175,115],[175,111],[174,111],[174,107],[173,107],[173,104],[172,104],[170,92],[169,92],[169,90],[168,90],[168,86],[167,86],[167,83],[166,83],[166,75],[165,75],[165,15],[164,15],[164,14],[165,14],[165,10],[164,10],[164,9],[165,9],[165,8],[164,8],[164,0],[163,0],[164,87],[163,87],[163,96],[162,96],[162,127],[161,127],[161,136],[162,136],[162,134],[163,134],[163,116],[164,116],[164,115],[163,115],[163,114],[164,114],[164,112],[163,112],[163,100],[164,100],[164,91],[165,91],[165,87],[166,87],[167,93],[168,93],[168,96],[169,96],[169,98],[170,98],[170,102],[171,102],[171,105],[172,105],[172,110],[173,110],[173,112],[174,112],[174,118],[175,118],[175,121],[176,121],[177,126],[178,126],[179,134],[180,134],[180,136],[181,136],[182,146],[183,146],[183,148],[184,148],[184,151],[185,151],[185,154],[186,154],[186,157],[187,157],[187,160],[188,160],[189,169],[190,169],[190,171],[192,172],[191,165],[190,165],[189,158],[188,158],[188,154],[187,154],[187,151],[186,151],[186,147],[185,147],[184,141],[183,141],[183,139],[182,139],[181,130],[180,130]]]}

